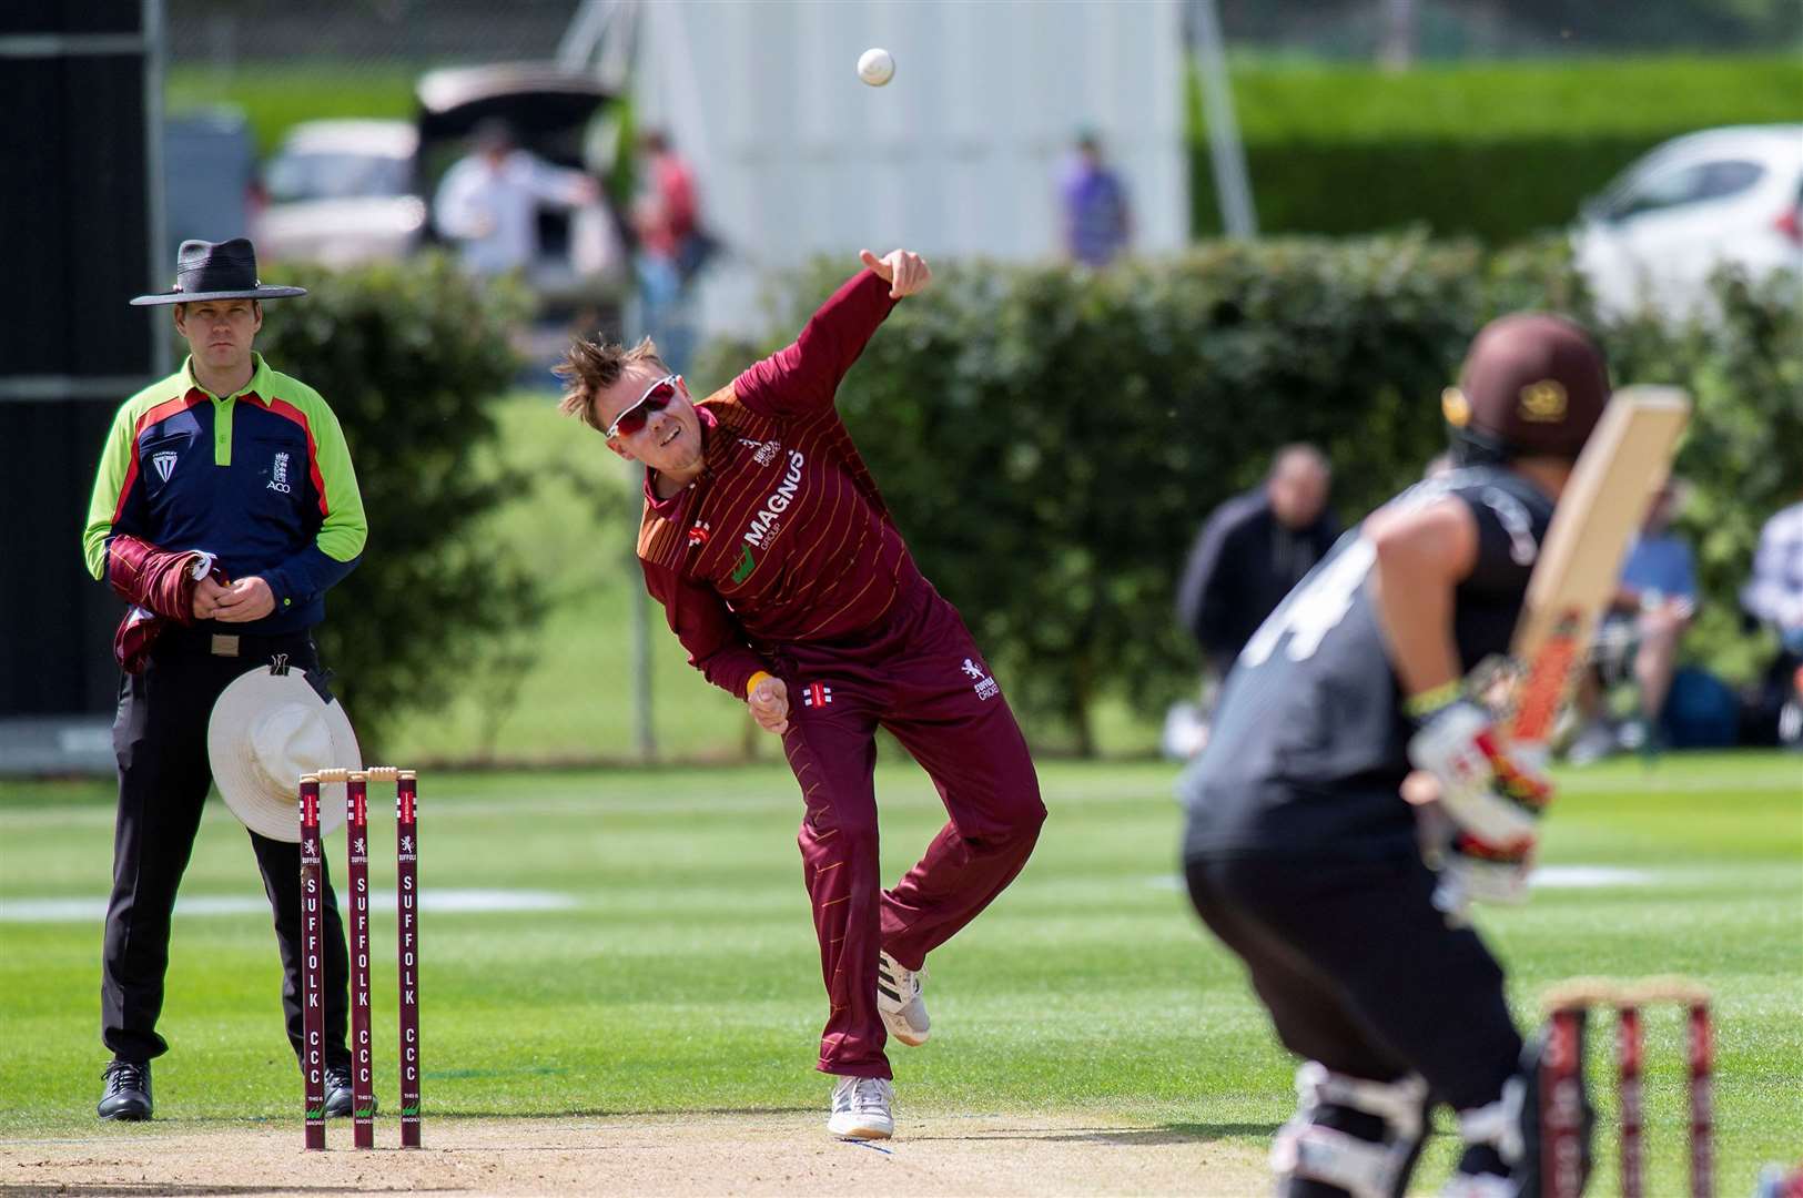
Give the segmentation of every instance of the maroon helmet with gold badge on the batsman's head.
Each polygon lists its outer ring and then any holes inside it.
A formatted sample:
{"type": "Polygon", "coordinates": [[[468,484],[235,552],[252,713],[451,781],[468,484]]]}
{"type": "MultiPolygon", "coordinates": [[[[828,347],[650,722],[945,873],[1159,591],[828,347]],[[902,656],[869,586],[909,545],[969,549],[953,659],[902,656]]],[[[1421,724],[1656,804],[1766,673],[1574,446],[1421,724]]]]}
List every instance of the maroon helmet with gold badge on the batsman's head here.
{"type": "Polygon", "coordinates": [[[1460,461],[1576,458],[1608,404],[1608,366],[1578,324],[1516,312],[1471,342],[1459,386],[1441,396],[1460,461]]]}

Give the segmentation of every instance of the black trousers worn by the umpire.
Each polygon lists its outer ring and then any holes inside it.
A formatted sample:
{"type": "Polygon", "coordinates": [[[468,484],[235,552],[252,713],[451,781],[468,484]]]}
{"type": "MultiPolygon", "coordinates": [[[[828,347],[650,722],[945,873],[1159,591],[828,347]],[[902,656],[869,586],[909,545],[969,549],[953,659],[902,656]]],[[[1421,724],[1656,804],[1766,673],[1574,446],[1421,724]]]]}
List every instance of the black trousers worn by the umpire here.
{"type": "MultiPolygon", "coordinates": [[[[240,638],[242,654],[215,656],[211,636],[171,629],[142,674],[119,683],[114,753],[119,760],[119,816],[114,825],[114,888],[106,906],[101,960],[101,1039],[114,1056],[148,1061],[168,1052],[157,1034],[162,978],[169,967],[169,913],[200,830],[213,782],[207,721],[220,692],[274,654],[314,670],[317,649],[307,632],[240,638]]],[[[296,829],[297,830],[297,829],[296,829]]],[[[249,832],[281,948],[281,1009],[288,1043],[301,1052],[301,847],[249,832]]],[[[321,863],[323,865],[323,863],[321,863]]],[[[326,1061],[346,1065],[348,976],[344,924],[330,877],[325,894],[326,1061]]]]}

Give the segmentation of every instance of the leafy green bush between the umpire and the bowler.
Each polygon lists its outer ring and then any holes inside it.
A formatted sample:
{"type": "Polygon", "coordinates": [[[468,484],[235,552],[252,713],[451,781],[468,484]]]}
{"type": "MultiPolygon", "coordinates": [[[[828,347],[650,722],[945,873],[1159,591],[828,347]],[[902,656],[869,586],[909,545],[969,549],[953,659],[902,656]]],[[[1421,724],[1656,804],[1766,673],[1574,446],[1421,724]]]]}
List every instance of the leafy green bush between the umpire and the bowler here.
{"type": "Polygon", "coordinates": [[[337,413],[370,515],[317,640],[377,760],[400,710],[505,694],[530,661],[523,638],[543,605],[528,548],[489,524],[528,483],[494,463],[490,407],[517,369],[508,330],[525,301],[478,290],[444,254],[344,272],[290,263],[281,281],[308,295],[267,306],[258,348],[337,413]]]}

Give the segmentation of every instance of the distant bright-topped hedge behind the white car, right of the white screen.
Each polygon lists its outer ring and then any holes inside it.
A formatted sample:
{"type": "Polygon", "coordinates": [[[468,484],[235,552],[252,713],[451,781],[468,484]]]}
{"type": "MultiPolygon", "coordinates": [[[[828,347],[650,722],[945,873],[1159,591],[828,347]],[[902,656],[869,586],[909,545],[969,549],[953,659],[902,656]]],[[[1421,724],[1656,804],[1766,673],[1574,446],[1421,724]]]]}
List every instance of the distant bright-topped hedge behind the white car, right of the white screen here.
{"type": "MultiPolygon", "coordinates": [[[[1659,142],[1803,117],[1796,58],[1648,58],[1424,67],[1239,65],[1235,115],[1264,232],[1424,223],[1500,245],[1569,225],[1659,142]]],[[[1197,236],[1219,232],[1192,86],[1197,236]]]]}

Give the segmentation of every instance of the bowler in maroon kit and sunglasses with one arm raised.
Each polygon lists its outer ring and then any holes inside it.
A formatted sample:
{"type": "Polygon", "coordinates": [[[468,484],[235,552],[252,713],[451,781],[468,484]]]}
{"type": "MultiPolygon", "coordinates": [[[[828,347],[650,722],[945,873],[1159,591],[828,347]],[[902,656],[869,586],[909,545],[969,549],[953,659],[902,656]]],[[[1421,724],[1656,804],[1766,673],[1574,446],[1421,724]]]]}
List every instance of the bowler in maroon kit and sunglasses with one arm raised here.
{"type": "Polygon", "coordinates": [[[835,409],[878,324],[930,281],[907,250],[862,261],[792,346],[701,402],[649,340],[579,340],[559,375],[563,409],[645,465],[638,560],[691,665],[783,737],[829,1003],[828,1131],[885,1139],[885,1039],[927,1041],[927,955],[1013,881],[1046,807],[1001,683],[914,566],[835,409]],[[889,890],[876,858],[878,726],[927,769],[950,814],[889,890]]]}

